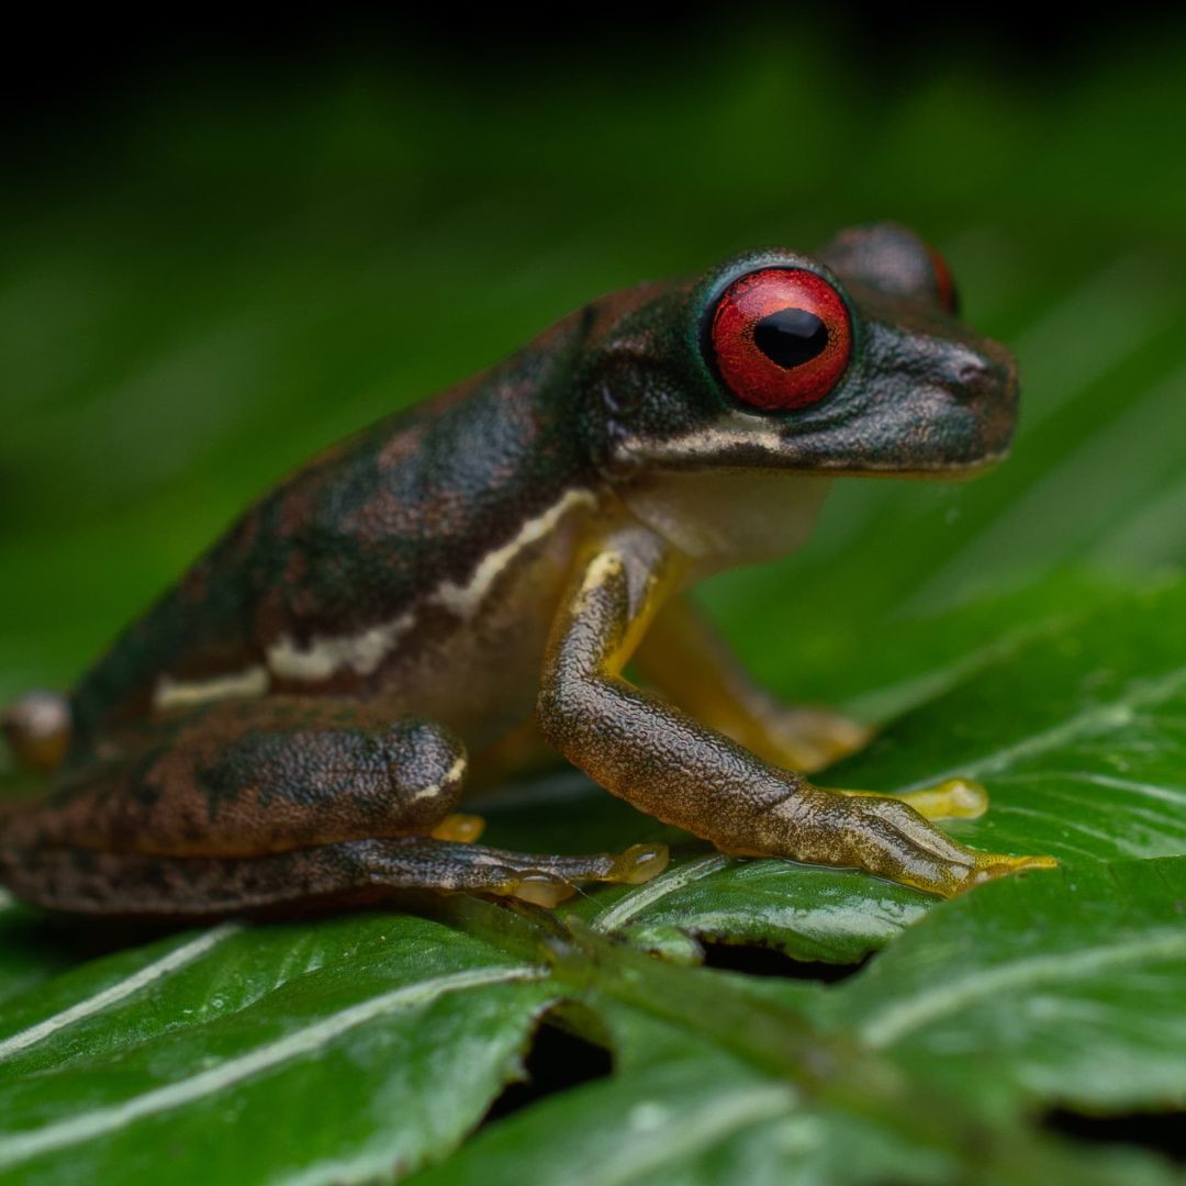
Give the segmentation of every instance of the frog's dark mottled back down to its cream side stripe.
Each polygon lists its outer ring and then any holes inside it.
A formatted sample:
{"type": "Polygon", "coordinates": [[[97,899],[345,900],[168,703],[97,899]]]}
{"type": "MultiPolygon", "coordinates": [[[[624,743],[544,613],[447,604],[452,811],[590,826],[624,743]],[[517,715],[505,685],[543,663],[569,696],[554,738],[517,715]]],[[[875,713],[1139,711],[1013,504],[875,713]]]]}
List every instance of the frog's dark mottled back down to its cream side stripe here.
{"type": "Polygon", "coordinates": [[[371,695],[393,656],[455,631],[484,559],[588,498],[566,382],[584,331],[566,319],[260,499],[79,681],[76,751],[153,709],[371,695]]]}

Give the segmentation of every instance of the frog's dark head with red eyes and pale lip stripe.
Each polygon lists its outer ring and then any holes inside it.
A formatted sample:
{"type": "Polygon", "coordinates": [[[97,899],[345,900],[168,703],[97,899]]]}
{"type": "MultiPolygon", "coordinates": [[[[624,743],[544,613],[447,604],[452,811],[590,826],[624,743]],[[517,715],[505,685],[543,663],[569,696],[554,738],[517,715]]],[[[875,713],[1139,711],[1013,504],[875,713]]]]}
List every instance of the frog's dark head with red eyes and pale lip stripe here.
{"type": "Polygon", "coordinates": [[[957,314],[942,259],[892,224],[640,293],[599,318],[586,355],[602,464],[619,477],[974,473],[1008,448],[1018,377],[957,314]]]}

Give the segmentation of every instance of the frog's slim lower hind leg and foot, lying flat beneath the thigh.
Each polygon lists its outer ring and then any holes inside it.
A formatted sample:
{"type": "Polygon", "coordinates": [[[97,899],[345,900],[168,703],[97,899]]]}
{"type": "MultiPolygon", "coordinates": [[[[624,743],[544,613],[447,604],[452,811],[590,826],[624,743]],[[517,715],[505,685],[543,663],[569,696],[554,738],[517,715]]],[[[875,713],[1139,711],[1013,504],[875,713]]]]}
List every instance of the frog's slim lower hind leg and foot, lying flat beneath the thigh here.
{"type": "Polygon", "coordinates": [[[662,844],[620,855],[533,856],[429,836],[344,841],[249,859],[0,849],[0,880],[50,910],[168,919],[292,913],[382,901],[409,890],[554,906],[578,882],[635,885],[665,865],[662,844]]]}

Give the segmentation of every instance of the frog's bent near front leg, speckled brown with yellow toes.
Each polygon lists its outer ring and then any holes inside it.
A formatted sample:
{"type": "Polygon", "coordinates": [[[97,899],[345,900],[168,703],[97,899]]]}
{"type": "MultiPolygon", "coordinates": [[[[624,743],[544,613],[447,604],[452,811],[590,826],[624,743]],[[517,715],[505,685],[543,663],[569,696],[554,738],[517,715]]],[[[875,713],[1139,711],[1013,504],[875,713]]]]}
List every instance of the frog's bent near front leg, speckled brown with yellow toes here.
{"type": "Polygon", "coordinates": [[[944,897],[1053,863],[974,852],[898,799],[817,788],[623,680],[677,568],[637,527],[600,541],[581,566],[553,629],[538,706],[570,761],[640,810],[738,855],[856,866],[944,897]]]}

